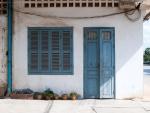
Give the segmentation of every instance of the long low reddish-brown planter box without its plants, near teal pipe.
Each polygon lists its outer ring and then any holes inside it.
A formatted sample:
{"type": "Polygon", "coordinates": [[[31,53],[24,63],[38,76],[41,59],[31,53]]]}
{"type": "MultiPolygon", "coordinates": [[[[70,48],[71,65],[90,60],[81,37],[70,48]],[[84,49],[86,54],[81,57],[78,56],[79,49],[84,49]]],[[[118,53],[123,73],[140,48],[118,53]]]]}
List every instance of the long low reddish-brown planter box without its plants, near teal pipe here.
{"type": "Polygon", "coordinates": [[[32,100],[33,99],[33,94],[15,94],[12,93],[10,95],[12,99],[27,99],[27,100],[32,100]]]}

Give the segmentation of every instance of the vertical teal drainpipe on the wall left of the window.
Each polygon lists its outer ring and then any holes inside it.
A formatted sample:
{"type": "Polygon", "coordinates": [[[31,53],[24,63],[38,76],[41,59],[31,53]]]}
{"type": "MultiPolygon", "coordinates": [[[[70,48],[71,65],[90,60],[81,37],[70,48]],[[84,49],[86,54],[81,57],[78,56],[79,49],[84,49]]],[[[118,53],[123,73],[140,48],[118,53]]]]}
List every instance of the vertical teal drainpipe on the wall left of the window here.
{"type": "Polygon", "coordinates": [[[8,34],[7,34],[7,84],[8,84],[8,95],[12,91],[12,29],[13,29],[13,0],[7,0],[7,24],[8,24],[8,34]]]}

